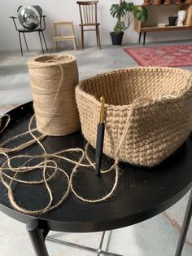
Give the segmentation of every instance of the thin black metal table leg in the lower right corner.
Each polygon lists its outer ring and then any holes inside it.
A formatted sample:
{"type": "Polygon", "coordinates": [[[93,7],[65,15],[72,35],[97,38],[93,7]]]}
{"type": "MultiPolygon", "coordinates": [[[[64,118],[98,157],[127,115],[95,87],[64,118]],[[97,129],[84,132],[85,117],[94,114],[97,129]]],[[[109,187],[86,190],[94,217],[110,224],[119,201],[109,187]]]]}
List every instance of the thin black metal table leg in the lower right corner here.
{"type": "Polygon", "coordinates": [[[186,206],[185,217],[184,217],[184,221],[182,224],[181,235],[180,235],[180,238],[178,241],[177,251],[176,251],[175,256],[181,256],[183,245],[185,243],[185,237],[188,232],[188,228],[190,226],[191,215],[192,215],[192,188],[190,190],[190,198],[189,198],[188,204],[186,206]]]}

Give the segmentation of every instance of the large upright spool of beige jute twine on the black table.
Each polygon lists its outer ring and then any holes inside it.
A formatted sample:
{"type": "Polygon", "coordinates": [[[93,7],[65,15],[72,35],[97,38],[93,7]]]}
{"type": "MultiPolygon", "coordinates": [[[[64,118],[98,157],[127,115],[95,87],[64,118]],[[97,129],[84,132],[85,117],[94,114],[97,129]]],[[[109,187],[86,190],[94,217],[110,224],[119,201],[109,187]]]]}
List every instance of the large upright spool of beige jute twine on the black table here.
{"type": "Polygon", "coordinates": [[[37,129],[44,135],[68,135],[80,129],[73,55],[42,55],[28,61],[37,129]]]}

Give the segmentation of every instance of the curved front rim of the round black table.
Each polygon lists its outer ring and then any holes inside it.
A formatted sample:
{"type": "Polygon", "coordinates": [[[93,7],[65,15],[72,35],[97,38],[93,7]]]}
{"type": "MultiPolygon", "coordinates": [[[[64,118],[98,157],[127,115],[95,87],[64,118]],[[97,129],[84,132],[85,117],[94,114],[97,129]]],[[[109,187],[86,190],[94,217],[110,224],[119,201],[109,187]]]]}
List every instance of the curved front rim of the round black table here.
{"type": "Polygon", "coordinates": [[[171,199],[164,202],[164,204],[160,205],[158,209],[151,208],[142,213],[130,215],[129,217],[116,218],[112,220],[103,220],[102,222],[94,223],[93,220],[86,222],[63,222],[56,221],[51,219],[46,219],[46,216],[32,216],[20,213],[17,210],[13,210],[8,208],[5,205],[0,204],[0,210],[7,214],[9,217],[14,218],[15,220],[20,221],[21,223],[28,223],[32,219],[38,219],[40,223],[40,227],[44,229],[49,229],[51,231],[58,232],[101,232],[107,230],[113,230],[120,227],[128,227],[136,223],[140,223],[148,218],[152,218],[157,214],[162,213],[164,210],[167,210],[172,205],[176,204],[187,192],[192,188],[192,182],[189,183],[187,187],[185,187],[181,192],[177,195],[172,196],[171,199]],[[44,217],[45,216],[45,217],[44,217]]]}

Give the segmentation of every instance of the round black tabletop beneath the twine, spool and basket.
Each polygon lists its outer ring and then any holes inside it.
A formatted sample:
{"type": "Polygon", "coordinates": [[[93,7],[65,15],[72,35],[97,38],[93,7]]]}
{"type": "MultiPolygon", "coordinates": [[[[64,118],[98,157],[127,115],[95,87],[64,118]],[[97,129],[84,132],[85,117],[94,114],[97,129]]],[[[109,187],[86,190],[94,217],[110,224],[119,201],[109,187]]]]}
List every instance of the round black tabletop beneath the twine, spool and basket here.
{"type": "MultiPolygon", "coordinates": [[[[11,123],[3,131],[1,141],[28,130],[33,104],[24,104],[11,110],[9,114],[11,123]]],[[[85,148],[85,144],[81,131],[66,136],[46,137],[43,141],[47,152],[63,148],[85,148]]],[[[41,150],[34,144],[23,152],[37,155],[41,150]]],[[[96,204],[85,203],[70,192],[63,205],[38,216],[13,210],[7,198],[7,190],[0,182],[0,210],[23,223],[38,218],[41,227],[62,232],[98,232],[139,223],[168,209],[189,191],[192,186],[191,152],[192,138],[189,138],[177,152],[158,166],[144,168],[120,163],[120,180],[116,193],[110,200],[96,204]]],[[[94,159],[94,148],[89,148],[89,155],[94,159]]],[[[103,157],[103,166],[111,166],[112,163],[109,157],[103,157]]],[[[62,162],[58,164],[63,165],[62,162]]],[[[64,165],[64,169],[70,174],[72,164],[65,162],[64,165]]],[[[76,191],[89,199],[104,196],[111,190],[114,177],[114,172],[98,177],[93,170],[78,170],[75,177],[76,191]]],[[[45,186],[17,183],[14,186],[14,195],[20,205],[30,210],[45,207],[48,201],[45,186]]],[[[56,197],[61,195],[61,177],[56,177],[51,186],[56,197]]]]}

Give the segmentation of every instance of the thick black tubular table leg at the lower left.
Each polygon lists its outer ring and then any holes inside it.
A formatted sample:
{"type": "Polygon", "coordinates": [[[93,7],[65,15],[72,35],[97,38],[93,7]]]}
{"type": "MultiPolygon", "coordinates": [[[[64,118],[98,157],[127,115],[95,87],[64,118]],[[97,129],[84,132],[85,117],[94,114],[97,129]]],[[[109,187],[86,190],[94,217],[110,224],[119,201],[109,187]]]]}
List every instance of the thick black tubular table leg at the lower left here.
{"type": "Polygon", "coordinates": [[[46,249],[46,243],[44,241],[43,233],[39,228],[38,220],[37,219],[31,220],[26,227],[27,227],[28,235],[32,242],[35,254],[37,256],[49,256],[46,249]]]}

